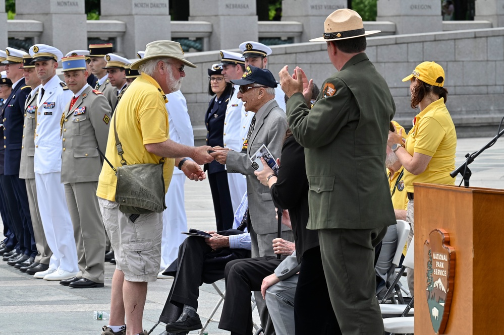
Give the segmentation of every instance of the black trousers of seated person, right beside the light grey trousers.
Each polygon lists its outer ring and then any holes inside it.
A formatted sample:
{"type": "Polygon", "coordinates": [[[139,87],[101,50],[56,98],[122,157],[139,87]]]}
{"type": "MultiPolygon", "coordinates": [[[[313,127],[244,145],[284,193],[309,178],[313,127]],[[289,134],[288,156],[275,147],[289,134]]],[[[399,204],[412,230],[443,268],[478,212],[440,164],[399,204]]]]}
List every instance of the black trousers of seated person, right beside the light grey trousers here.
{"type": "MultiPolygon", "coordinates": [[[[251,291],[260,291],[264,277],[271,275],[282,259],[276,256],[231,261],[226,265],[226,299],[219,328],[232,334],[252,333],[251,291]]],[[[266,320],[261,316],[261,322],[266,320]]]]}

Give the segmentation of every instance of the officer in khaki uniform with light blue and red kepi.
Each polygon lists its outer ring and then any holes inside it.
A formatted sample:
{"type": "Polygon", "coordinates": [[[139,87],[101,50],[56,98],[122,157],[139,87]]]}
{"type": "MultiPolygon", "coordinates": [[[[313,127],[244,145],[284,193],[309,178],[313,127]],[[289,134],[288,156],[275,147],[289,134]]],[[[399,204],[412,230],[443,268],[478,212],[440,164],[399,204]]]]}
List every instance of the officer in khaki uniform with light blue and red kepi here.
{"type": "Polygon", "coordinates": [[[86,82],[86,59],[62,59],[65,82],[74,93],[62,115],[61,182],[74,227],[79,273],[60,284],[73,288],[103,287],[105,229],[96,188],[102,160],[96,147],[105,152],[110,106],[103,93],[86,82]]]}

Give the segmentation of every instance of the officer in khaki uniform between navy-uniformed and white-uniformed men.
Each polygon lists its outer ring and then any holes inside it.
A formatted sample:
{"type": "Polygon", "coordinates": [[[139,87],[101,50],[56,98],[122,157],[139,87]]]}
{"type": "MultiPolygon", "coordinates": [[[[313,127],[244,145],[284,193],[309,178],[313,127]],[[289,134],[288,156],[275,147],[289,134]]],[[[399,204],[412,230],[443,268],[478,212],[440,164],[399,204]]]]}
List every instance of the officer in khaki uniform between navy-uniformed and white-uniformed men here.
{"type": "Polygon", "coordinates": [[[31,92],[25,102],[25,120],[23,124],[23,140],[21,142],[21,161],[19,165],[19,178],[25,179],[26,192],[30,207],[31,222],[33,225],[33,236],[37,246],[38,254],[35,261],[29,266],[20,267],[21,272],[28,275],[34,275],[39,271],[45,271],[49,268],[49,260],[52,251],[47,245],[45,239],[44,227],[40,219],[40,212],[37,202],[37,187],[35,185],[35,172],[33,170],[33,156],[35,155],[35,124],[37,122],[37,97],[41,86],[40,79],[35,72],[35,65],[31,64],[32,57],[23,55],[23,76],[26,85],[31,87],[31,92]]]}

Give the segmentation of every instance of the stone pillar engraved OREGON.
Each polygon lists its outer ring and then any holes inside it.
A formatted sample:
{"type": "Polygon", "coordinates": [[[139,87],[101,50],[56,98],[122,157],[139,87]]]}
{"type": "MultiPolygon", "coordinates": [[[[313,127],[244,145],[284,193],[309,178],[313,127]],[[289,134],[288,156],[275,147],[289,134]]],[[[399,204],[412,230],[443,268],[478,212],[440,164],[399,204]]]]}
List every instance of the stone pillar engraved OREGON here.
{"type": "Polygon", "coordinates": [[[442,31],[439,0],[378,0],[376,21],[392,21],[396,34],[442,31]]]}

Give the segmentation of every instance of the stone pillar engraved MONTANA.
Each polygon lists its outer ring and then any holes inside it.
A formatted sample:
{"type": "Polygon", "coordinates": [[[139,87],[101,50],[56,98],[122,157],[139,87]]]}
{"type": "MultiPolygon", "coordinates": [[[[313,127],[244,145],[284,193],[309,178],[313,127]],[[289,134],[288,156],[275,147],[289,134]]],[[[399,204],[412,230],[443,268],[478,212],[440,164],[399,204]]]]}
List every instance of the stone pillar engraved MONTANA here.
{"type": "Polygon", "coordinates": [[[84,0],[16,0],[16,19],[41,21],[39,43],[52,45],[64,55],[87,48],[84,0]]]}

